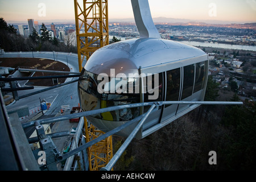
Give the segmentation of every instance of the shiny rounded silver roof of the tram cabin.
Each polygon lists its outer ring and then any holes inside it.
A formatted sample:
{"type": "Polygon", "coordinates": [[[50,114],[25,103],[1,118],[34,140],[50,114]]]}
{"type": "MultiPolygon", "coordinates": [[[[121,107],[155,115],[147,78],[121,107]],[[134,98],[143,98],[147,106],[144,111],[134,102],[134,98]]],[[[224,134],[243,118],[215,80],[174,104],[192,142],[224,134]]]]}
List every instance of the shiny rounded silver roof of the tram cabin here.
{"type": "MultiPolygon", "coordinates": [[[[86,71],[99,75],[134,73],[138,69],[207,56],[199,48],[166,39],[130,39],[109,44],[95,51],[85,64],[86,71]]],[[[182,67],[182,65],[180,66],[182,67]]]]}

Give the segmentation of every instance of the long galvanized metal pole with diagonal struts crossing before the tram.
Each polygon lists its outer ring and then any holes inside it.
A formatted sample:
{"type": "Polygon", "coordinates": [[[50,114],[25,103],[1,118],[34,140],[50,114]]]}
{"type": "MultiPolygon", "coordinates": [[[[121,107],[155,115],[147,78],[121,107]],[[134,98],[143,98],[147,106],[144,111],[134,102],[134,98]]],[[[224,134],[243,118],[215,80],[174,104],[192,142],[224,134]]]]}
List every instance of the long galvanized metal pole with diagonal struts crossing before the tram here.
{"type": "Polygon", "coordinates": [[[131,132],[129,137],[125,140],[125,142],[122,144],[122,146],[119,148],[119,150],[115,153],[113,156],[112,160],[108,163],[106,167],[101,168],[101,170],[109,171],[113,168],[114,164],[117,162],[119,157],[122,155],[123,151],[125,151],[126,147],[130,144],[131,140],[135,137],[135,135],[138,133],[139,129],[143,126],[144,121],[146,121],[148,115],[151,114],[152,111],[154,111],[155,107],[162,106],[162,105],[172,105],[172,104],[181,104],[181,105],[242,105],[243,102],[218,102],[218,101],[162,101],[162,102],[144,102],[144,103],[137,103],[137,104],[127,104],[127,105],[119,105],[119,106],[113,106],[113,107],[107,107],[104,109],[97,109],[97,110],[91,110],[91,111],[84,111],[81,113],[73,113],[73,114],[68,114],[68,115],[62,115],[59,117],[54,117],[54,118],[46,118],[46,119],[39,119],[36,121],[31,121],[27,123],[23,123],[22,127],[27,128],[31,126],[38,125],[40,123],[41,125],[46,124],[46,123],[53,123],[53,122],[59,122],[59,121],[64,121],[67,119],[73,119],[73,118],[79,118],[79,117],[86,117],[89,115],[94,115],[94,114],[100,114],[100,113],[105,113],[109,111],[114,111],[114,110],[121,110],[121,109],[129,109],[133,107],[142,107],[142,106],[151,106],[150,109],[147,111],[147,113],[144,113],[142,115],[139,115],[139,117],[134,118],[131,121],[127,121],[123,125],[109,131],[108,133],[105,133],[104,135],[101,135],[97,139],[94,139],[88,143],[85,143],[84,145],[75,148],[75,150],[69,151],[67,154],[64,154],[61,158],[60,161],[68,159],[72,155],[75,155],[79,153],[80,151],[85,150],[86,148],[92,146],[93,144],[96,144],[97,142],[100,142],[101,140],[109,137],[110,135],[113,135],[117,133],[118,131],[121,131],[125,129],[126,127],[132,125],[135,122],[139,122],[138,125],[134,128],[134,130],[131,132]]]}

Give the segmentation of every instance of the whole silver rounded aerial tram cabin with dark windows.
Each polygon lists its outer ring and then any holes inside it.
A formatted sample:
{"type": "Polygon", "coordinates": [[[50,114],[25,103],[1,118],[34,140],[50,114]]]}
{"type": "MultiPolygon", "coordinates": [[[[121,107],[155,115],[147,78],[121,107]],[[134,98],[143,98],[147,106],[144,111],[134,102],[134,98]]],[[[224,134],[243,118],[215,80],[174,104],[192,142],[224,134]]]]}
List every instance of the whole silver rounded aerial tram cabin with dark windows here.
{"type": "MultiPolygon", "coordinates": [[[[203,101],[208,80],[208,55],[172,40],[140,38],[98,49],[81,72],[81,109],[158,101],[203,101]]],[[[199,105],[163,105],[148,116],[136,138],[142,139],[199,105]]],[[[108,132],[146,113],[150,107],[115,110],[86,117],[108,132]]],[[[129,136],[138,123],[117,133],[129,136]]]]}

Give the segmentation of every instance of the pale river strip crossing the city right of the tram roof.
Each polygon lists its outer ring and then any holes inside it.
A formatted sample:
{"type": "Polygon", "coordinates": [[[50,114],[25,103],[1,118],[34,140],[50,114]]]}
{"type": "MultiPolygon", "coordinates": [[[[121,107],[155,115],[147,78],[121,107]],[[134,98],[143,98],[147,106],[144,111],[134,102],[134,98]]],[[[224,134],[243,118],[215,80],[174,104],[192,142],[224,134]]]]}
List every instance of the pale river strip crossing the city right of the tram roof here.
{"type": "Polygon", "coordinates": [[[214,44],[214,43],[195,42],[195,41],[181,41],[181,43],[188,44],[190,46],[256,51],[256,46],[242,46],[242,45],[230,45],[230,44],[218,44],[218,43],[214,44]]]}

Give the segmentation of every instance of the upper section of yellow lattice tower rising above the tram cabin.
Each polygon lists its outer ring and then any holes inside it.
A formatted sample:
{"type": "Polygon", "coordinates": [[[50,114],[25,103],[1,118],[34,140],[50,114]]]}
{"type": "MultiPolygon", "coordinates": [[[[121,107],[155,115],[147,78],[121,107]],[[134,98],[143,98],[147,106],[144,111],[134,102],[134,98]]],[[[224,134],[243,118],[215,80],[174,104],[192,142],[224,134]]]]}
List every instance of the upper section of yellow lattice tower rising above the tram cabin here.
{"type": "Polygon", "coordinates": [[[79,69],[98,48],[109,44],[108,0],[74,0],[79,69]]]}

